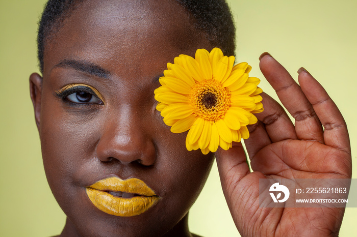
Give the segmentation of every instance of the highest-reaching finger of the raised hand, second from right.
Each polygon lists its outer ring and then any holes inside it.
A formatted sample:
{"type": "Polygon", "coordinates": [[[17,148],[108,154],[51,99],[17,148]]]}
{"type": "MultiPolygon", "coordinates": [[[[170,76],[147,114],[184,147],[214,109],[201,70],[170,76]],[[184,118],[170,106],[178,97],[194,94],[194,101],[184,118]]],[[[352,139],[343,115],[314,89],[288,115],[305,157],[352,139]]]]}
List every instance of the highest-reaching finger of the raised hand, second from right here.
{"type": "Polygon", "coordinates": [[[288,71],[270,54],[262,54],[260,68],[282,104],[294,117],[297,138],[323,143],[323,129],[319,118],[288,71]]]}

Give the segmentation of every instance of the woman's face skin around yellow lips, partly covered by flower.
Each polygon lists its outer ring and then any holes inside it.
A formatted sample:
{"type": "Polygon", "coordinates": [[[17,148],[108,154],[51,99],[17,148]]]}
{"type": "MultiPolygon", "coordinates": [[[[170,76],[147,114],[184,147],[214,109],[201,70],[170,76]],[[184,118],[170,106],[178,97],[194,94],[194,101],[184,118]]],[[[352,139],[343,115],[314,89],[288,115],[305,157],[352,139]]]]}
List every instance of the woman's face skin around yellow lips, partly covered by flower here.
{"type": "Polygon", "coordinates": [[[212,47],[169,0],[85,1],[50,39],[42,85],[38,75],[30,79],[42,90],[32,96],[48,183],[68,217],[65,231],[159,236],[186,220],[213,155],[186,150],[186,133],[164,124],[154,90],[166,63],[197,48],[212,47]],[[140,179],[157,203],[127,217],[99,210],[86,187],[108,177],[140,179]]]}

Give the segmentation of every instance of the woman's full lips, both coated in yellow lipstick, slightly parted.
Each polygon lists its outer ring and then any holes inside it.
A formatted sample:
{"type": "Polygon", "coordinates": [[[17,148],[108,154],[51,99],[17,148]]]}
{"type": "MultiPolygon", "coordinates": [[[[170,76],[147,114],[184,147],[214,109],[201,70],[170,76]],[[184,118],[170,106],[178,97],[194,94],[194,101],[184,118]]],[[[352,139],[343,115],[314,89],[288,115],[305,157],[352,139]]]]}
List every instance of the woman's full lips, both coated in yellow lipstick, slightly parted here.
{"type": "Polygon", "coordinates": [[[140,215],[160,199],[144,181],[136,178],[109,177],[86,187],[86,192],[97,209],[120,217],[140,215]]]}

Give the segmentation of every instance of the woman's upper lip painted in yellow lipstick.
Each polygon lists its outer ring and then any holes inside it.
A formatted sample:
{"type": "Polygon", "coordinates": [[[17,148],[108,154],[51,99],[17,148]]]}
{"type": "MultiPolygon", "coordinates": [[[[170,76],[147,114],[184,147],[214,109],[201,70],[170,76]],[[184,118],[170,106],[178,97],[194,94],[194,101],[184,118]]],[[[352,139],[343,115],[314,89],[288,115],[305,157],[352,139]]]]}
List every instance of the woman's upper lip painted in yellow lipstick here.
{"type": "Polygon", "coordinates": [[[144,181],[137,178],[122,180],[119,177],[112,176],[99,180],[89,187],[101,191],[135,193],[141,196],[156,196],[154,190],[149,188],[144,181]]]}

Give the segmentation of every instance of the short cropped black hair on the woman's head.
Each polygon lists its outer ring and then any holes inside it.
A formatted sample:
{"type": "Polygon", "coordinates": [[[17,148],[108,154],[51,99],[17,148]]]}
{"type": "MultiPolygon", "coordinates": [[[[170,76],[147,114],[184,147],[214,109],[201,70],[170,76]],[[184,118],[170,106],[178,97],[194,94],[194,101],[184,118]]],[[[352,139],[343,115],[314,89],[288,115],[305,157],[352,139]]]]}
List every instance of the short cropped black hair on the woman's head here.
{"type": "MultiPolygon", "coordinates": [[[[193,17],[195,28],[203,32],[213,47],[224,55],[235,55],[236,28],[225,0],[175,0],[193,17]]],[[[37,57],[43,73],[43,54],[46,43],[62,27],[75,7],[84,0],[49,0],[38,24],[37,57]]]]}

